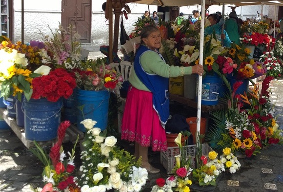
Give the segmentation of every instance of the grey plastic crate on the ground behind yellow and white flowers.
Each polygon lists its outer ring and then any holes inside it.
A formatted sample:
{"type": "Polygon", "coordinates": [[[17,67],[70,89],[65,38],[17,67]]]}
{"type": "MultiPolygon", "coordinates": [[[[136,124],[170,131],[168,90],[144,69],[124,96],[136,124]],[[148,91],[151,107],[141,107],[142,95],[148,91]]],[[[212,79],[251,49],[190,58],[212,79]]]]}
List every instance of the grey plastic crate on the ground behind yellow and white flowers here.
{"type": "MultiPolygon", "coordinates": [[[[195,168],[196,161],[196,145],[184,146],[185,155],[191,158],[191,167],[195,168]]],[[[208,153],[213,151],[206,143],[202,144],[202,155],[208,156],[208,153]]],[[[175,156],[180,154],[179,147],[168,147],[166,151],[160,152],[160,162],[166,169],[167,174],[172,174],[171,171],[175,167],[175,156]]]]}

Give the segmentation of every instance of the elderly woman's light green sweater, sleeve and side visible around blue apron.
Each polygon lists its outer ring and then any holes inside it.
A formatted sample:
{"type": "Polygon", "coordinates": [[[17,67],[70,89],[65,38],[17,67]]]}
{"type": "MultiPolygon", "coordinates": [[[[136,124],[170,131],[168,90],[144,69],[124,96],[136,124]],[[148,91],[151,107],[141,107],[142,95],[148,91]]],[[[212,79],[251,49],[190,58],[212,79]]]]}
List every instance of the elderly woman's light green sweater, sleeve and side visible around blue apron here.
{"type": "MultiPolygon", "coordinates": [[[[140,62],[145,72],[158,74],[162,77],[178,77],[192,74],[192,67],[169,66],[160,58],[157,52],[144,52],[140,62]]],[[[137,89],[150,91],[138,78],[135,70],[131,71],[129,82],[137,89]]]]}

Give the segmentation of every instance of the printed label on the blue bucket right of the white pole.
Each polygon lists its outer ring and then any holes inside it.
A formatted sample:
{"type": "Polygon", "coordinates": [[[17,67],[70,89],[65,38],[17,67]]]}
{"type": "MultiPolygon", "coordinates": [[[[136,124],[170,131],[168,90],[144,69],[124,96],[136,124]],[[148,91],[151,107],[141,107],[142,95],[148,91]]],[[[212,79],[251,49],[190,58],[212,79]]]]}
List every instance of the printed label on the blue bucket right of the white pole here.
{"type": "Polygon", "coordinates": [[[218,101],[219,83],[203,83],[202,84],[202,100],[218,101]]]}

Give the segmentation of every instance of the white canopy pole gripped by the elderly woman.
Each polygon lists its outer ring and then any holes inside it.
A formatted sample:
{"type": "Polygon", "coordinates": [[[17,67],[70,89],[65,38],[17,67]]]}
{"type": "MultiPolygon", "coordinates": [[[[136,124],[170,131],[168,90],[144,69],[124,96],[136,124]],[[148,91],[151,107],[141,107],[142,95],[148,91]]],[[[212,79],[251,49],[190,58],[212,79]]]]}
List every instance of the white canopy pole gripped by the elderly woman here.
{"type": "MultiPolygon", "coordinates": [[[[205,21],[205,0],[202,0],[202,19],[201,19],[201,38],[200,38],[200,61],[199,64],[203,65],[203,40],[204,40],[204,21],[205,21]]],[[[198,78],[198,111],[197,111],[197,136],[201,130],[201,112],[202,112],[202,75],[198,78]]],[[[200,147],[200,138],[196,137],[197,147],[200,147]]]]}

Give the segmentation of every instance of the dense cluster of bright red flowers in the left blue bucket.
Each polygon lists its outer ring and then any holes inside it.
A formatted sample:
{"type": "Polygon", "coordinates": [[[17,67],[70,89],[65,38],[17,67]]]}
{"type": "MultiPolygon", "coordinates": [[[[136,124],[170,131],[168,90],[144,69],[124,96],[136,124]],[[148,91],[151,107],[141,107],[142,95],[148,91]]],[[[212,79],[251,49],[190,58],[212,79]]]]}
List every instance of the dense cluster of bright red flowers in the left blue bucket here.
{"type": "Polygon", "coordinates": [[[72,95],[76,80],[67,70],[59,68],[34,78],[32,87],[32,99],[47,98],[50,102],[57,102],[61,97],[67,99],[72,95]]]}

